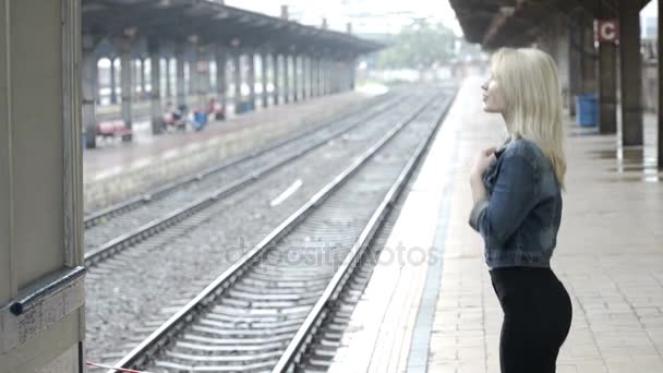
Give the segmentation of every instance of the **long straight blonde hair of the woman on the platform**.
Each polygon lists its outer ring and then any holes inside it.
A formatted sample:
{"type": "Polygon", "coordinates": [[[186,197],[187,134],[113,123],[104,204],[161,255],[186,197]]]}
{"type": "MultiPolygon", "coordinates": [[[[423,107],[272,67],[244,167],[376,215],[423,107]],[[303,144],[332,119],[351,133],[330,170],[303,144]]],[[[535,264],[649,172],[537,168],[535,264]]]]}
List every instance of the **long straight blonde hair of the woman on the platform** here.
{"type": "Polygon", "coordinates": [[[493,55],[491,70],[505,98],[509,136],[539,145],[565,189],[562,92],[552,57],[533,48],[502,48],[493,55]]]}

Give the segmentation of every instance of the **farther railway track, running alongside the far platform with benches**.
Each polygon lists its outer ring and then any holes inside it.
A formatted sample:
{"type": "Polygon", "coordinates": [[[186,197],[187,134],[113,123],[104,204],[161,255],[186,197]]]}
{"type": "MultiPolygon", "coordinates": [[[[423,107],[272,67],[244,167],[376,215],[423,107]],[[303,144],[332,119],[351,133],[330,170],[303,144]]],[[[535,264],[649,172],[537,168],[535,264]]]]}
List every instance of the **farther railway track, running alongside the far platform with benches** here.
{"type": "Polygon", "coordinates": [[[85,265],[96,265],[214,205],[261,177],[403,105],[400,95],[350,111],[292,139],[219,167],[179,179],[91,214],[85,219],[85,265]]]}

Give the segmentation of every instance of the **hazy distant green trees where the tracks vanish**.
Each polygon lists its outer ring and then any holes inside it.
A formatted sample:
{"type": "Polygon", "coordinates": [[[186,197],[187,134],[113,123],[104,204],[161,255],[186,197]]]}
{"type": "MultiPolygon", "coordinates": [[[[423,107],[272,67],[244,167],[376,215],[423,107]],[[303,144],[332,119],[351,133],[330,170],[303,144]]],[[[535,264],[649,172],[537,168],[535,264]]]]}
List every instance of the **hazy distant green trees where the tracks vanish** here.
{"type": "Polygon", "coordinates": [[[457,40],[454,32],[442,23],[418,19],[403,27],[390,48],[378,55],[377,65],[381,69],[427,70],[451,59],[457,40]]]}

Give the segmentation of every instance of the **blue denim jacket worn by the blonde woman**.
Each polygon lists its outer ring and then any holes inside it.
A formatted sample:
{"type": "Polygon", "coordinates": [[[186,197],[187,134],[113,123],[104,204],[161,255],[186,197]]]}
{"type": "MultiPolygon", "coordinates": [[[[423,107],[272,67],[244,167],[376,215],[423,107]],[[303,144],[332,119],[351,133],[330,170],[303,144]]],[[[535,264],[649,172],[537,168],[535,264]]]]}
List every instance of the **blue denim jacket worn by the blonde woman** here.
{"type": "Polygon", "coordinates": [[[550,159],[532,141],[507,141],[482,179],[487,198],[474,204],[470,226],[484,240],[489,269],[550,267],[562,219],[562,193],[550,159]]]}

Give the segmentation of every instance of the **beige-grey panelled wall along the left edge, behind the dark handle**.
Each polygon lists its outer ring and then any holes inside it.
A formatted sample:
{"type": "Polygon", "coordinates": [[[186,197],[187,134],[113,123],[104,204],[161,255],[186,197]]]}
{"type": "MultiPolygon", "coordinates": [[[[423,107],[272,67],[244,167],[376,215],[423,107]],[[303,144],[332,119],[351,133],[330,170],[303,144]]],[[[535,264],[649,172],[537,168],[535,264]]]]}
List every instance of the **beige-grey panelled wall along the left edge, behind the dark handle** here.
{"type": "Polygon", "coordinates": [[[0,0],[0,371],[75,372],[82,277],[76,0],[0,0]],[[50,276],[50,277],[45,277],[50,276]]]}

